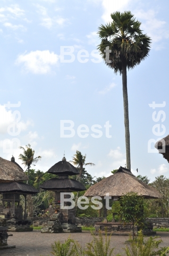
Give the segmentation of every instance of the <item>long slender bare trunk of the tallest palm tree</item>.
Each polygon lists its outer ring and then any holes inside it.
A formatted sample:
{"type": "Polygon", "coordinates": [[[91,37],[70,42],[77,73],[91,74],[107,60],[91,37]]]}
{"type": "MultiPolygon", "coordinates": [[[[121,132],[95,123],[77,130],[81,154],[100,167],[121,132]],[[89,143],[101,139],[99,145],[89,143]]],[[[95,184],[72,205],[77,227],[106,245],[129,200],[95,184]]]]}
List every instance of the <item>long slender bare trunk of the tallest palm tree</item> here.
{"type": "Polygon", "coordinates": [[[131,170],[130,163],[130,132],[128,119],[128,96],[127,96],[127,64],[122,57],[122,83],[123,83],[123,103],[124,103],[124,122],[125,122],[125,139],[126,139],[126,162],[127,169],[131,170]]]}

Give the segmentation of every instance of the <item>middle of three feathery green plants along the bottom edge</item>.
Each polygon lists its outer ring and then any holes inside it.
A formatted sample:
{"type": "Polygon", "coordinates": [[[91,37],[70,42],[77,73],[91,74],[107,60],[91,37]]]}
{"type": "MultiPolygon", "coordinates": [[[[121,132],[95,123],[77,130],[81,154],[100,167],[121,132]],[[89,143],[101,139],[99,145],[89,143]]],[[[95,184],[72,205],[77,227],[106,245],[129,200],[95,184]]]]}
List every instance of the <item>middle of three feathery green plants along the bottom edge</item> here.
{"type": "MultiPolygon", "coordinates": [[[[93,235],[93,234],[92,234],[93,235]]],[[[86,256],[111,256],[113,255],[114,248],[110,248],[110,236],[107,237],[107,232],[104,236],[99,233],[99,237],[93,235],[93,241],[87,243],[86,256]]]]}

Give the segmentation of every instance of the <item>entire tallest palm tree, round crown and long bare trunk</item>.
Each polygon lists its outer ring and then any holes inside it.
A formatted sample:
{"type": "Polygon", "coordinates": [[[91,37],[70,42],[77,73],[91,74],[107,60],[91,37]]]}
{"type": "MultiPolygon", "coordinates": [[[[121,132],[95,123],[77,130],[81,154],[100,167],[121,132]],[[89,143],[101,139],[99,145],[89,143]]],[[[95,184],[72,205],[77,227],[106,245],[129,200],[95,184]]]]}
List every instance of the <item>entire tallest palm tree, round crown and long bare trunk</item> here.
{"type": "Polygon", "coordinates": [[[127,169],[130,164],[130,133],[128,119],[127,69],[140,64],[150,51],[151,38],[142,33],[141,22],[130,11],[111,14],[112,22],[101,25],[98,30],[101,43],[98,49],[106,65],[115,73],[122,74],[124,123],[126,138],[127,169]]]}

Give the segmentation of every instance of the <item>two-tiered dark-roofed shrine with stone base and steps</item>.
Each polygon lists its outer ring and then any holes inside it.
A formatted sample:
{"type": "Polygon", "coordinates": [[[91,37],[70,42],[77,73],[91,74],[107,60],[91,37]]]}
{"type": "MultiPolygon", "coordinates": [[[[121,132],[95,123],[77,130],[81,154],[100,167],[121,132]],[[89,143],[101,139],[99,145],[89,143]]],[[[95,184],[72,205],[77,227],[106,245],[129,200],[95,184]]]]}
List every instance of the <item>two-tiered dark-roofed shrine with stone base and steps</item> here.
{"type": "MultiPolygon", "coordinates": [[[[47,227],[41,229],[42,233],[61,233],[61,232],[82,232],[81,227],[76,225],[75,213],[76,208],[60,209],[60,193],[61,192],[78,192],[84,191],[84,185],[74,179],[69,178],[72,175],[78,175],[77,169],[66,161],[63,157],[53,165],[48,173],[56,174],[56,178],[52,178],[43,183],[40,188],[55,192],[55,209],[50,216],[47,227]]],[[[67,195],[65,195],[66,198],[67,195]]],[[[69,206],[69,202],[65,202],[64,206],[69,206]]]]}

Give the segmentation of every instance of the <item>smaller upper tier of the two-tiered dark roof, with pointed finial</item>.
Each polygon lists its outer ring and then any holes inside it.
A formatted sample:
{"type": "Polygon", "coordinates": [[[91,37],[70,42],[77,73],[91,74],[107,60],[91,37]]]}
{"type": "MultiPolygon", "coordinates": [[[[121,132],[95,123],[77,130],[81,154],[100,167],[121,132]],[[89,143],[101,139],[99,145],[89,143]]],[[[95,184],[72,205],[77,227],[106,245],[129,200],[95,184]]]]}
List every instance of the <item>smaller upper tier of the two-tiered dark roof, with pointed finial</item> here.
{"type": "Polygon", "coordinates": [[[66,158],[63,157],[62,161],[59,161],[55,165],[53,165],[49,170],[50,174],[68,174],[68,175],[76,175],[79,174],[76,167],[66,161],[66,158]]]}

